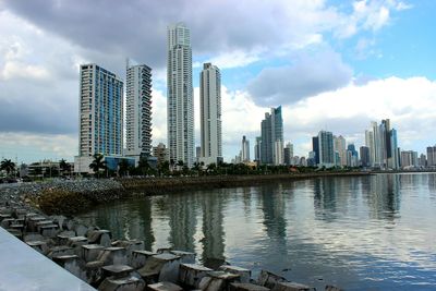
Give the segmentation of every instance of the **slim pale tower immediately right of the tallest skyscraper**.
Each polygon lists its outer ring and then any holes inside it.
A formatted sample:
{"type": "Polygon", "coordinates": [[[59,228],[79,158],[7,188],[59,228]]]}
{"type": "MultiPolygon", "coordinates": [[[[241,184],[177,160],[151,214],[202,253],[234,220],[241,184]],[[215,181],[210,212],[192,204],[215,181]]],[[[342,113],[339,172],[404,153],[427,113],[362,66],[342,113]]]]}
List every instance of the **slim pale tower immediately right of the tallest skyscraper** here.
{"type": "Polygon", "coordinates": [[[205,165],[222,160],[221,74],[216,65],[205,63],[199,73],[201,157],[205,165]]]}

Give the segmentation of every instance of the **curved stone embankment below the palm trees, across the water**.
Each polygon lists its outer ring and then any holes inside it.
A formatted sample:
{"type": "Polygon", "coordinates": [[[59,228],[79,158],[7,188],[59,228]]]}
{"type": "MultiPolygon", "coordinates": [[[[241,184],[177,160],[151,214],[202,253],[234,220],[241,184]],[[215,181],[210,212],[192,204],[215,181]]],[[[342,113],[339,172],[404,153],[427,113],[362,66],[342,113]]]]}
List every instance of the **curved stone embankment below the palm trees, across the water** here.
{"type": "Polygon", "coordinates": [[[186,191],[238,187],[328,177],[362,177],[371,172],[316,172],[177,178],[119,178],[53,181],[0,187],[0,201],[19,198],[47,215],[74,216],[90,207],[133,196],[177,194],[186,191]]]}

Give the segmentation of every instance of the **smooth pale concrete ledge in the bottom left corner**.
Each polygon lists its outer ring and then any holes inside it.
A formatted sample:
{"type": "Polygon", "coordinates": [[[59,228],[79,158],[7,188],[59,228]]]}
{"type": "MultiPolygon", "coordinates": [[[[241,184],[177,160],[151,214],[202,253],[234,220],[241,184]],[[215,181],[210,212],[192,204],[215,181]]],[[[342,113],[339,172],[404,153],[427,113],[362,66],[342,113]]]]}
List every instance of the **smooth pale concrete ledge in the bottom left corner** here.
{"type": "Polygon", "coordinates": [[[95,290],[3,228],[0,258],[0,290],[95,290]]]}

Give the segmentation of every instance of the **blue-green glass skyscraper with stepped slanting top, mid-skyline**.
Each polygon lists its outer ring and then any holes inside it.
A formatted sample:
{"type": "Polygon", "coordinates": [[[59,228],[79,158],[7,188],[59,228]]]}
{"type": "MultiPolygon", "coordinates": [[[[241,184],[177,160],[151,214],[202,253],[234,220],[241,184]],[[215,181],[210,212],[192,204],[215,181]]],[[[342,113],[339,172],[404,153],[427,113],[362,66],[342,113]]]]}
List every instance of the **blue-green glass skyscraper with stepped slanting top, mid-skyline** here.
{"type": "Polygon", "coordinates": [[[266,165],[283,163],[283,119],[281,117],[281,106],[271,108],[270,113],[265,113],[261,129],[261,162],[266,165]]]}

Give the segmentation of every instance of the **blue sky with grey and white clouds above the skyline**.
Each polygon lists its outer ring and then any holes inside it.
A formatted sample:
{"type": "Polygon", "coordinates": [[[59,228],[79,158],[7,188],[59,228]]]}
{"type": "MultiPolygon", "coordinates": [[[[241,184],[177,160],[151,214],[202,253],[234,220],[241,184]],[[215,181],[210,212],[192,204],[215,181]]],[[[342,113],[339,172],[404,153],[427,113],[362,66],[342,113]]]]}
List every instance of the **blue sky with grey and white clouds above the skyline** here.
{"type": "Polygon", "coordinates": [[[153,68],[153,144],[166,143],[166,32],[177,22],[192,36],[196,145],[198,74],[213,62],[228,161],[277,106],[298,156],[320,130],[359,147],[387,118],[401,149],[424,153],[436,143],[434,11],[433,0],[0,0],[0,157],[73,160],[80,64],[125,78],[128,57],[153,68]]]}

